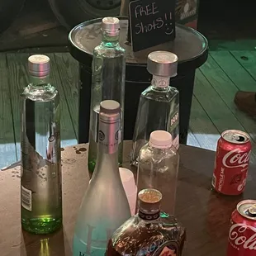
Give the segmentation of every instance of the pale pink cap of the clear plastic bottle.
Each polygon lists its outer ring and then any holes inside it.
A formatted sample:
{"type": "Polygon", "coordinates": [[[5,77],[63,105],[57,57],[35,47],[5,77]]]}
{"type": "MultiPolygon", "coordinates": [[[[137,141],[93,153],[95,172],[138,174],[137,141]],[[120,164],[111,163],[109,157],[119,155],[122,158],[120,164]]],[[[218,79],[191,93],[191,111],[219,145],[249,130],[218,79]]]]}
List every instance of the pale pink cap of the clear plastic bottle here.
{"type": "Polygon", "coordinates": [[[166,130],[154,130],[149,137],[149,146],[168,149],[173,144],[172,135],[166,130]]]}

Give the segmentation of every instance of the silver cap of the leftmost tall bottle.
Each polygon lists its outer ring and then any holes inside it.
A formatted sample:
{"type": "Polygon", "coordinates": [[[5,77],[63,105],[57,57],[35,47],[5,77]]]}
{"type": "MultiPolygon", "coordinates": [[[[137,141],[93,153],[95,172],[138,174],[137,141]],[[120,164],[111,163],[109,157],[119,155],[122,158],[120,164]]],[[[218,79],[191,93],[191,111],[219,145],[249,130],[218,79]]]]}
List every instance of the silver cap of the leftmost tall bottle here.
{"type": "Polygon", "coordinates": [[[47,76],[50,73],[50,58],[45,55],[31,55],[28,58],[28,71],[34,77],[47,76]]]}

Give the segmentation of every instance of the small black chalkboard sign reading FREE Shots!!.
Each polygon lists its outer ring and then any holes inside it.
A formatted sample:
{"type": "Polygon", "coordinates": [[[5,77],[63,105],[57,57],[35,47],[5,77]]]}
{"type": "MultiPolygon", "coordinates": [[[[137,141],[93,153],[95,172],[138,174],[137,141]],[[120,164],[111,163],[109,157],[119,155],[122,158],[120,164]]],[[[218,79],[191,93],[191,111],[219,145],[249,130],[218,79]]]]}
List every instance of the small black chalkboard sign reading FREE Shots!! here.
{"type": "Polygon", "coordinates": [[[144,50],[175,38],[175,0],[130,2],[130,35],[133,51],[144,50]]]}

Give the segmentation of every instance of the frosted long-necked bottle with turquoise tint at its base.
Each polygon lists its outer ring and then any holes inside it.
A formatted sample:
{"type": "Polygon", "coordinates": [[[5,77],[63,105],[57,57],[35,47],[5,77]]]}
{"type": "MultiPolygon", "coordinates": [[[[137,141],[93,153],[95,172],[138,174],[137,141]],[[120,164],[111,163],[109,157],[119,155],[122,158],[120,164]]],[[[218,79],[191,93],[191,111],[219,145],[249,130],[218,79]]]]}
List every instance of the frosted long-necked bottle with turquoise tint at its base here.
{"type": "Polygon", "coordinates": [[[118,168],[120,112],[116,101],[100,104],[97,162],[78,212],[73,256],[103,256],[112,233],[130,217],[118,168]]]}

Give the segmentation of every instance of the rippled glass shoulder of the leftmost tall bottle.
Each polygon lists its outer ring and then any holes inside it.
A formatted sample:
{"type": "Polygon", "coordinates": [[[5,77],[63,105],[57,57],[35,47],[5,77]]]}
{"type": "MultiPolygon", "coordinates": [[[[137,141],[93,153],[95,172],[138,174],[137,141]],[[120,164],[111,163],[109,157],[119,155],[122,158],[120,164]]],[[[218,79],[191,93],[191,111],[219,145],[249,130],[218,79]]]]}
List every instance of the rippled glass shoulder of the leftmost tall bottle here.
{"type": "Polygon", "coordinates": [[[35,85],[30,83],[26,88],[23,88],[21,97],[30,99],[34,102],[50,102],[59,100],[58,90],[50,83],[35,85]]]}

